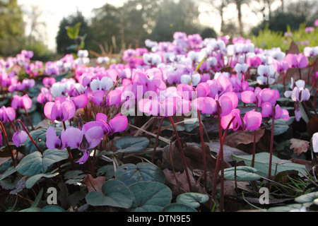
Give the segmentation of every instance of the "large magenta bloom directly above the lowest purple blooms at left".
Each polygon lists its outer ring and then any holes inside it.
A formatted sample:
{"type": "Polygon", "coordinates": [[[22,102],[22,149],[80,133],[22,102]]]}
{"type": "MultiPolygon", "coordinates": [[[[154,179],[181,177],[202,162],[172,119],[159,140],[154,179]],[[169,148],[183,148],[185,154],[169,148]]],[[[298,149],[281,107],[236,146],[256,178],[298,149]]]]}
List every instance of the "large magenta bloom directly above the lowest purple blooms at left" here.
{"type": "Polygon", "coordinates": [[[47,102],[44,114],[52,121],[66,121],[73,118],[76,107],[72,100],[67,97],[57,97],[54,102],[47,102]]]}

